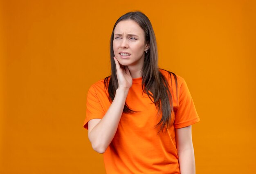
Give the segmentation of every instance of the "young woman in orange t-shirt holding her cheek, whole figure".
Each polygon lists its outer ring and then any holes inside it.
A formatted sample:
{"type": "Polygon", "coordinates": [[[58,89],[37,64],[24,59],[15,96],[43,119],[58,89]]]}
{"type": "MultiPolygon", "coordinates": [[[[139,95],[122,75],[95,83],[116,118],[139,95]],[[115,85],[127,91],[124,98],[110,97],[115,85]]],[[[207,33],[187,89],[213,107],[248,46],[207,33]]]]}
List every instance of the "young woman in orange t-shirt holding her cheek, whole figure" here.
{"type": "Polygon", "coordinates": [[[107,174],[194,174],[191,125],[200,121],[184,79],[159,69],[150,20],[129,12],[114,25],[111,76],[93,84],[84,127],[107,174]]]}

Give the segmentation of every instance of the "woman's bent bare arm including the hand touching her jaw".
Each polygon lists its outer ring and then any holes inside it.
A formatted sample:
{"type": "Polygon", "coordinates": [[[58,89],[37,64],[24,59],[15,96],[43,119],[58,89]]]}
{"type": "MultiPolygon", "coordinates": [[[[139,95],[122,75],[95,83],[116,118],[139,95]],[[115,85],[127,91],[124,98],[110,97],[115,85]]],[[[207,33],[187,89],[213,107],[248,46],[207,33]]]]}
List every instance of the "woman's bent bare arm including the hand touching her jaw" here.
{"type": "Polygon", "coordinates": [[[115,57],[114,60],[118,79],[115,98],[102,119],[92,119],[88,122],[88,138],[92,143],[92,148],[101,154],[106,151],[117,132],[126,97],[132,86],[132,77],[128,67],[120,67],[115,57]]]}

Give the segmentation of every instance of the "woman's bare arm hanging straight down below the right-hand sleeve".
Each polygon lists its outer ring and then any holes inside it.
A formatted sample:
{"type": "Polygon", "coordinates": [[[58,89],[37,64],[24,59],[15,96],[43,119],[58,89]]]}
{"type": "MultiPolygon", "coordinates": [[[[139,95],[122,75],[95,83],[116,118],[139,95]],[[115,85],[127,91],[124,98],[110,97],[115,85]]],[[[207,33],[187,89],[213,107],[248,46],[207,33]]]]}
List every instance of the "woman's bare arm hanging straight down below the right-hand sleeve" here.
{"type": "Polygon", "coordinates": [[[176,146],[179,156],[180,174],[195,174],[195,156],[191,127],[190,125],[176,129],[176,146]]]}

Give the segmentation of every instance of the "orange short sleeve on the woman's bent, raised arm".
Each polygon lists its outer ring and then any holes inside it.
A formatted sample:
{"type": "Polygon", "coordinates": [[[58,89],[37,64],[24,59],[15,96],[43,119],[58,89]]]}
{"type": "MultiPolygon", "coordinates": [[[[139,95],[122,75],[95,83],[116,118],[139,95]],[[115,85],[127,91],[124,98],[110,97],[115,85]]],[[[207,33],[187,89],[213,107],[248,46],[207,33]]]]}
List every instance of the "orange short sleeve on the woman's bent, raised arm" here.
{"type": "Polygon", "coordinates": [[[105,112],[97,96],[97,91],[92,85],[87,94],[86,117],[83,127],[88,130],[88,121],[94,118],[103,118],[105,112]]]}

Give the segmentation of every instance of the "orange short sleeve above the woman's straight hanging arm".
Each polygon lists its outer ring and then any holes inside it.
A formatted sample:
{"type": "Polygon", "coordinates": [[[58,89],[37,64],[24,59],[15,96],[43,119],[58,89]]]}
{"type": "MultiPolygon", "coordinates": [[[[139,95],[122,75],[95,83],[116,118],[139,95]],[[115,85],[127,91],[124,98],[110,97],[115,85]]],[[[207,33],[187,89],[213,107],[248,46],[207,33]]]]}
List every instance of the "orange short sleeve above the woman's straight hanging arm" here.
{"type": "Polygon", "coordinates": [[[174,127],[175,129],[187,127],[199,121],[200,118],[196,112],[189,88],[183,79],[180,86],[179,105],[175,112],[174,127]]]}

